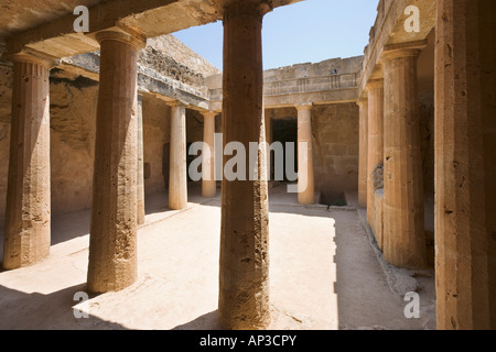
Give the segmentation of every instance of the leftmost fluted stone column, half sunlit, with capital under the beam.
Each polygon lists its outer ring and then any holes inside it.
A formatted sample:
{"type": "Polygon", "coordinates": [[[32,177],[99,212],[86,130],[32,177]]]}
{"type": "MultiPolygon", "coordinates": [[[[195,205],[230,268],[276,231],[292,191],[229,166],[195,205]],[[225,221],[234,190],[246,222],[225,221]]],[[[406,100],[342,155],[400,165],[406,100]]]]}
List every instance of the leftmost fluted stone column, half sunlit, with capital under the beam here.
{"type": "Polygon", "coordinates": [[[14,62],[3,268],[50,252],[50,67],[24,54],[14,62]]]}

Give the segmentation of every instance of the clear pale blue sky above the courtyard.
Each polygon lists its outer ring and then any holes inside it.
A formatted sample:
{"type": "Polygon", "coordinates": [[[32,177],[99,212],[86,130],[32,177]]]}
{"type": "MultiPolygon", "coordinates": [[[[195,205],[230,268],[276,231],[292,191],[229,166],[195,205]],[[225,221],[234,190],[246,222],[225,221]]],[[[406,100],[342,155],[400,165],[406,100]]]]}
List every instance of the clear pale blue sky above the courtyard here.
{"type": "MultiPolygon", "coordinates": [[[[362,55],[379,0],[304,0],[263,18],[263,68],[362,55]]],[[[218,21],[174,33],[222,69],[223,25],[218,21]]]]}

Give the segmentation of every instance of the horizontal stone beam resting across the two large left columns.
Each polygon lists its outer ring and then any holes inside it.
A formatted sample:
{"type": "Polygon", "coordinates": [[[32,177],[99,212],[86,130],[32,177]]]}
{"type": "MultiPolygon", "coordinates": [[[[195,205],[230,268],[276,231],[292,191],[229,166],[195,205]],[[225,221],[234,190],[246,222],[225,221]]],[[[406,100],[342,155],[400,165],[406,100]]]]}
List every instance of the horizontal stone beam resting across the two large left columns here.
{"type": "MultiPolygon", "coordinates": [[[[8,54],[34,52],[57,58],[94,52],[95,34],[114,28],[155,37],[223,19],[233,0],[109,0],[89,8],[89,33],[75,33],[76,15],[66,14],[6,38],[8,54]]],[[[237,0],[240,1],[240,0],[237,0]]],[[[281,7],[302,0],[271,0],[281,7]]]]}

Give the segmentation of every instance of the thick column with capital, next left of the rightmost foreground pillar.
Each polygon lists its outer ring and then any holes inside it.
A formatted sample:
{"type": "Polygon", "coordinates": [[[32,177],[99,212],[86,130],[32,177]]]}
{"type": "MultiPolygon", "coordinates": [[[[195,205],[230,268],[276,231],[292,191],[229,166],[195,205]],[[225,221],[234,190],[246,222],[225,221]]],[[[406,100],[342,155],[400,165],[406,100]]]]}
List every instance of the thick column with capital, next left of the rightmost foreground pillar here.
{"type": "Polygon", "coordinates": [[[427,265],[423,184],[417,89],[418,48],[382,54],[385,260],[396,266],[427,265]]]}

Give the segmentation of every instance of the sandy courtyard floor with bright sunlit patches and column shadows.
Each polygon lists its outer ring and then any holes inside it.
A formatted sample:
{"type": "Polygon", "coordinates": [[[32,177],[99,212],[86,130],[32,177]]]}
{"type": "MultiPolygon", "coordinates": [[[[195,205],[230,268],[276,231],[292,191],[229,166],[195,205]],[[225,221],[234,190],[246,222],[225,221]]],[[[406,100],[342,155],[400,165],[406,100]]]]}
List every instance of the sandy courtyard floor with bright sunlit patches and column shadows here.
{"type": "MultiPolygon", "coordinates": [[[[270,205],[270,329],[435,328],[433,278],[419,279],[421,316],[407,319],[408,301],[389,289],[356,209],[298,206],[279,188],[270,205]]],[[[219,329],[220,201],[190,200],[170,211],[164,195],[147,199],[138,282],[86,302],[74,296],[86,286],[89,213],[54,219],[51,256],[0,273],[0,329],[219,329]]]]}

